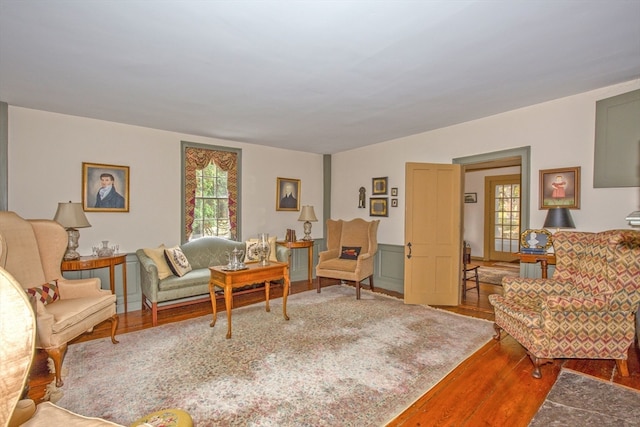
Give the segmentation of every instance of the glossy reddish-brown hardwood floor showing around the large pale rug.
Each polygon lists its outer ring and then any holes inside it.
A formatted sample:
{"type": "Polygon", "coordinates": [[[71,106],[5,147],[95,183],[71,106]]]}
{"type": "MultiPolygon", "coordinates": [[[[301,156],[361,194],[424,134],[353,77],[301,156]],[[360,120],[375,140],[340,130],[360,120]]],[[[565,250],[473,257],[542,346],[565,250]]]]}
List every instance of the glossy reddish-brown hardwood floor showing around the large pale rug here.
{"type": "MultiPolygon", "coordinates": [[[[323,285],[331,285],[323,281],[323,285]]],[[[307,282],[292,283],[292,293],[315,292],[307,282]]],[[[500,286],[481,283],[480,296],[475,290],[467,293],[458,307],[440,307],[467,316],[493,320],[488,301],[492,293],[502,291],[500,286]]],[[[272,289],[272,298],[282,297],[282,288],[272,289]]],[[[394,295],[399,296],[399,295],[394,295]]],[[[263,300],[260,292],[238,295],[234,305],[240,307],[263,300]]],[[[133,307],[130,307],[133,308],[133,307]]],[[[218,310],[224,310],[224,301],[218,300],[218,310]]],[[[160,311],[160,325],[211,314],[211,304],[160,311]]],[[[70,345],[109,336],[109,322],[99,325],[70,345]]],[[[120,315],[118,334],[151,327],[149,310],[130,311],[120,315]]],[[[615,363],[609,360],[556,360],[542,367],[542,378],[531,376],[532,364],[520,344],[503,333],[501,341],[491,340],[469,359],[460,364],[435,387],[429,390],[388,426],[526,426],[544,401],[560,369],[583,372],[597,378],[640,390],[640,352],[637,345],[630,351],[628,378],[621,377],[615,363]]],[[[63,365],[64,369],[64,365],[63,365]]],[[[53,381],[48,372],[46,354],[38,351],[29,382],[29,397],[42,400],[46,384],[53,381]]],[[[64,386],[62,388],[64,390],[64,386]]]]}

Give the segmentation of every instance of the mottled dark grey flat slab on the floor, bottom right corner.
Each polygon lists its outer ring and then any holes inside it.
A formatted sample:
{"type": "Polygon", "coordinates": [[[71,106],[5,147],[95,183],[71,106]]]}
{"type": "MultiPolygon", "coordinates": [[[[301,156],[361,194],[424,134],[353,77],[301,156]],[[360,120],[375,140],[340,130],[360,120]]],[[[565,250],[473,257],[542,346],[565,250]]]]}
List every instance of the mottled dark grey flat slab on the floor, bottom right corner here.
{"type": "Polygon", "coordinates": [[[640,391],[563,369],[530,427],[637,426],[640,391]]]}

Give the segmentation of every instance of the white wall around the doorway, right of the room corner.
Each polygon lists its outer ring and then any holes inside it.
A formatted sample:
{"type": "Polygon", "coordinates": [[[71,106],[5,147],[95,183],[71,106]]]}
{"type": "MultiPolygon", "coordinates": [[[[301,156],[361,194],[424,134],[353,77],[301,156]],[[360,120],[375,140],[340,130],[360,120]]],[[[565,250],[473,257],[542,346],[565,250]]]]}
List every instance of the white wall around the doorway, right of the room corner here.
{"type": "MultiPolygon", "coordinates": [[[[640,207],[640,192],[631,188],[593,188],[596,101],[640,88],[640,81],[601,88],[503,114],[437,129],[333,156],[331,216],[368,217],[358,209],[358,188],[371,196],[371,178],[389,177],[399,187],[399,207],[381,218],[378,241],[404,244],[404,172],[406,162],[451,163],[454,158],[531,146],[530,224],[541,226],[538,171],[581,167],[581,208],[572,211],[578,230],[629,228],[624,218],[640,207]]],[[[368,205],[367,205],[368,206],[368,205]]]]}

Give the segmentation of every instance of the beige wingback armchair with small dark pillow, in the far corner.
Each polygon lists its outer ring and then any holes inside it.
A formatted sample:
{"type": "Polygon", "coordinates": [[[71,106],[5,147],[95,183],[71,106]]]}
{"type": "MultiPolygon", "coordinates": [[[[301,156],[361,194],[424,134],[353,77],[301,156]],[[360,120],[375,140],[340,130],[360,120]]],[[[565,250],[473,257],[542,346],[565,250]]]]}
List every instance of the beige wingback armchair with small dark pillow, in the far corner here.
{"type": "Polygon", "coordinates": [[[373,291],[373,261],[378,251],[379,220],[327,220],[327,250],[320,252],[316,266],[317,289],[322,277],[355,282],[360,299],[360,282],[369,279],[373,291]]]}

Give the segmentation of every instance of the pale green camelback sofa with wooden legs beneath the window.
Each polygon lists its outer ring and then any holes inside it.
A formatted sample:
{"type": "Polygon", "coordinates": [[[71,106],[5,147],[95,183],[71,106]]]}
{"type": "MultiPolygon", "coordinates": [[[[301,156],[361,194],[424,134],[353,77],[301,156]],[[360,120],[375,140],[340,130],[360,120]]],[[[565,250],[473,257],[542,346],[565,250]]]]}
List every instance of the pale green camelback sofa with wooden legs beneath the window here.
{"type": "MultiPolygon", "coordinates": [[[[276,258],[288,262],[289,249],[274,245],[276,258]]],[[[156,262],[148,254],[155,249],[138,249],[136,256],[140,263],[140,286],[142,287],[142,308],[148,306],[152,313],[152,324],[158,324],[158,310],[181,305],[194,304],[209,300],[209,267],[227,264],[227,253],[234,249],[245,250],[244,242],[219,237],[201,237],[180,245],[180,249],[189,261],[191,271],[181,277],[170,274],[159,278],[156,262]]],[[[168,248],[167,248],[168,249],[168,248]]],[[[166,266],[160,266],[160,272],[166,266]]],[[[160,276],[164,276],[160,274],[160,276]]]]}

